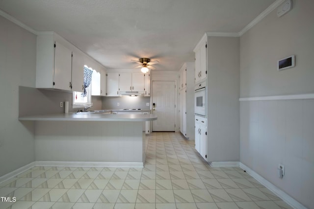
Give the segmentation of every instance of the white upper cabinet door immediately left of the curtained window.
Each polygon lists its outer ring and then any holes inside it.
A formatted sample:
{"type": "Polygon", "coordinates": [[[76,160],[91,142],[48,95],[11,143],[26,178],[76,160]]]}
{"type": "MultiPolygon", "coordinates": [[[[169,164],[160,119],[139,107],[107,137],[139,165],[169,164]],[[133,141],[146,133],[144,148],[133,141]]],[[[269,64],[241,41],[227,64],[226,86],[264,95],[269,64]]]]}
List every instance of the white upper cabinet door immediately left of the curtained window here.
{"type": "Polygon", "coordinates": [[[84,82],[84,59],[83,55],[73,52],[72,57],[72,91],[82,92],[84,82]]]}

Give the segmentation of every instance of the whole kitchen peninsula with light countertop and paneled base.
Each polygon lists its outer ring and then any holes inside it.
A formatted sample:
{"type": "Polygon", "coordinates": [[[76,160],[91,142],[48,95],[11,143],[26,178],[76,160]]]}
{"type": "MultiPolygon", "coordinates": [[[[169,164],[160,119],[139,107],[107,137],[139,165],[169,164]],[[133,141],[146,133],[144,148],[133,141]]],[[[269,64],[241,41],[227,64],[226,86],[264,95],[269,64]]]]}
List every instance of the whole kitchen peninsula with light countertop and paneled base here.
{"type": "Polygon", "coordinates": [[[19,120],[35,121],[36,165],[143,167],[143,122],[157,116],[68,113],[19,120]]]}

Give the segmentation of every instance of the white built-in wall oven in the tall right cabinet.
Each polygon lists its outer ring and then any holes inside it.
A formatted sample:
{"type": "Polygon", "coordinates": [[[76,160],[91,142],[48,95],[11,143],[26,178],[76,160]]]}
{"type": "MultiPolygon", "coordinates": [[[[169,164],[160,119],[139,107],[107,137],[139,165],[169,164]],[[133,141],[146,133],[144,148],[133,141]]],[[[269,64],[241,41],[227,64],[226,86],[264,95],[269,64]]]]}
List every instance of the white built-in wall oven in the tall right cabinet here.
{"type": "Polygon", "coordinates": [[[206,82],[195,86],[194,110],[199,116],[206,116],[206,82]]]}

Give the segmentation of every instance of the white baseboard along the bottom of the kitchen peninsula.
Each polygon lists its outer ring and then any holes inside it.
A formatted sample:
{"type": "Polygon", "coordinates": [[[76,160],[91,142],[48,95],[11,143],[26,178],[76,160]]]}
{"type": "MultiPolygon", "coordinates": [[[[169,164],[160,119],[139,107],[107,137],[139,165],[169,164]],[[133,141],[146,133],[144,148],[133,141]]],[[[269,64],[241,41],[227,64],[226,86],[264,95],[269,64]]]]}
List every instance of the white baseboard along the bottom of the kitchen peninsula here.
{"type": "Polygon", "coordinates": [[[66,167],[144,167],[140,162],[71,162],[71,161],[35,161],[35,166],[66,167]]]}

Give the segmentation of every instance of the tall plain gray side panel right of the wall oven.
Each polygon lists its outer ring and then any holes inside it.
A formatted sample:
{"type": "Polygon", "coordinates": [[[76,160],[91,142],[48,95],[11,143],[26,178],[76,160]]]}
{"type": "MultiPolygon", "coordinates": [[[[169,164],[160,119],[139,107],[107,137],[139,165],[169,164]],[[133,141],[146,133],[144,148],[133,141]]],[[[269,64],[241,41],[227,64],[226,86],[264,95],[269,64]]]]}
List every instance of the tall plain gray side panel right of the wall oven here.
{"type": "Polygon", "coordinates": [[[239,161],[239,38],[209,37],[207,42],[207,160],[239,161]]]}

